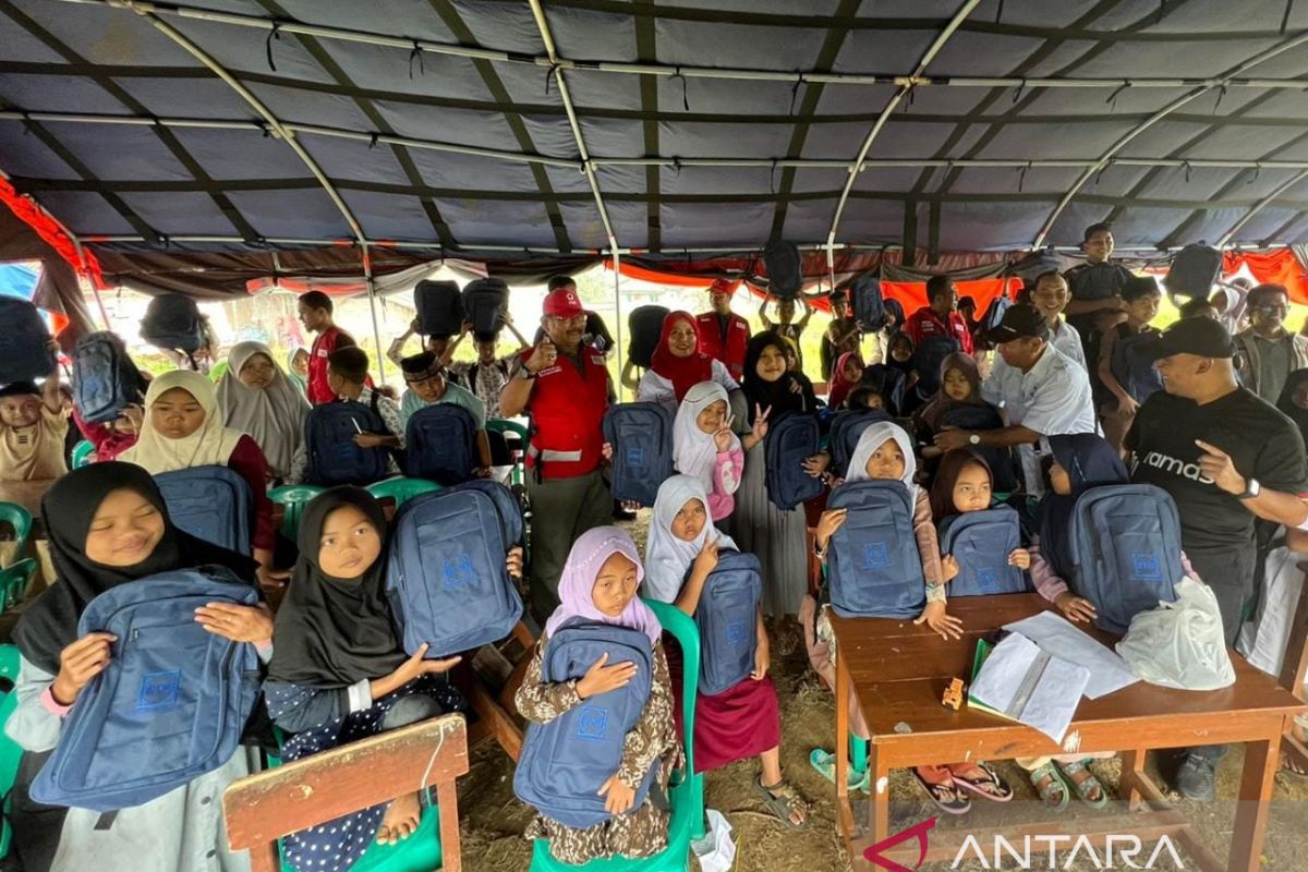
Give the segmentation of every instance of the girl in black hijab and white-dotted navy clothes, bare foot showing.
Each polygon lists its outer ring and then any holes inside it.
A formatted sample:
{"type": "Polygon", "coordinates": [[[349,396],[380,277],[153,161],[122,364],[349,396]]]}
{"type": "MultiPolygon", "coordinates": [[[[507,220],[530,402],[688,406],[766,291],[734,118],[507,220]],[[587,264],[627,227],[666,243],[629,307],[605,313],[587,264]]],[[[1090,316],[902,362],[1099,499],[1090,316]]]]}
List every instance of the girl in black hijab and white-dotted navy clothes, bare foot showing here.
{"type": "MultiPolygon", "coordinates": [[[[361,488],[332,488],[305,506],[300,560],[277,611],[268,664],[268,714],[293,736],[288,761],[467,706],[446,673],[460,658],[412,656],[395,635],[386,599],[386,516],[361,488]]],[[[522,571],[522,552],[509,556],[522,571]]],[[[419,825],[419,794],[352,812],[285,839],[285,860],[305,872],[351,868],[375,841],[394,845],[419,825]]]]}

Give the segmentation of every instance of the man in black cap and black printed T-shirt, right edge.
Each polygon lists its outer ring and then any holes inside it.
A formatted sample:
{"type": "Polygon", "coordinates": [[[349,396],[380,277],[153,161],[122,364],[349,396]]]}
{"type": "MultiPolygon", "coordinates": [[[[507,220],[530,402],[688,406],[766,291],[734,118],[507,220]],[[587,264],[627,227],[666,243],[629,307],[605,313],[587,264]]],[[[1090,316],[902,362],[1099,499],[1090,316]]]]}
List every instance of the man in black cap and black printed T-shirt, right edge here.
{"type": "MultiPolygon", "coordinates": [[[[1308,506],[1308,465],[1298,428],[1240,387],[1235,343],[1219,322],[1188,318],[1163,331],[1155,349],[1163,391],[1148,397],[1126,434],[1131,481],[1176,502],[1181,545],[1216,595],[1227,642],[1253,595],[1254,518],[1298,527],[1308,506]]],[[[1214,766],[1226,748],[1192,748],[1176,775],[1188,799],[1213,799],[1214,766]]]]}

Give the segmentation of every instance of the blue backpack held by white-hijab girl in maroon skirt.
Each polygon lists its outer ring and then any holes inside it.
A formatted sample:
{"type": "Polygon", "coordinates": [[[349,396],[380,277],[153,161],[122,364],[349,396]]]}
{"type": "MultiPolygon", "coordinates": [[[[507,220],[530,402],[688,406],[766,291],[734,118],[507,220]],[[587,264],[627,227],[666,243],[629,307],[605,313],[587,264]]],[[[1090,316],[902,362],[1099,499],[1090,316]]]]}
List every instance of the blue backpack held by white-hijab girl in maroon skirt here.
{"type": "Polygon", "coordinates": [[[763,567],[749,553],[723,550],[695,609],[700,630],[700,693],[730,690],[753,672],[755,633],[763,600],[763,567]]]}

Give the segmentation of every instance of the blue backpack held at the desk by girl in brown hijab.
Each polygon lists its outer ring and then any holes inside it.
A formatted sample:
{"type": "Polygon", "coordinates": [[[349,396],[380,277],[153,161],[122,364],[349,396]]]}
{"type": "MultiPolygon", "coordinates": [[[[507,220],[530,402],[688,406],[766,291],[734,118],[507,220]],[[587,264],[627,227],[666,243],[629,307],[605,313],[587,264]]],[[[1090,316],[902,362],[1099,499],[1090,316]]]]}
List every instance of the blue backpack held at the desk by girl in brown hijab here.
{"type": "Polygon", "coordinates": [[[940,526],[940,553],[959,561],[959,574],[946,588],[950,599],[1025,592],[1025,573],[1008,566],[1008,554],[1020,546],[1022,523],[1008,506],[947,518],[940,526]]]}

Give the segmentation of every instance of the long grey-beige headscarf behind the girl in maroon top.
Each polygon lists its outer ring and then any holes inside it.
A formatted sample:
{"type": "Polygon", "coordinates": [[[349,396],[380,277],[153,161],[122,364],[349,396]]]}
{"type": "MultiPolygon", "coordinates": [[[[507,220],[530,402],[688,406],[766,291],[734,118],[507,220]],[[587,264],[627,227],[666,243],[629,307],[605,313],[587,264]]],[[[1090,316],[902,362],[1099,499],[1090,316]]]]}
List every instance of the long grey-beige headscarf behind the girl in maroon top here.
{"type": "Polygon", "coordinates": [[[309,400],[296,388],[276,362],[272,382],[266,388],[246,387],[241,370],[255,354],[273,360],[263,343],[237,343],[228,353],[228,371],[218,382],[218,408],[229,428],[249,433],[263,448],[273,476],[290,472],[296,450],[305,438],[309,400]]]}

